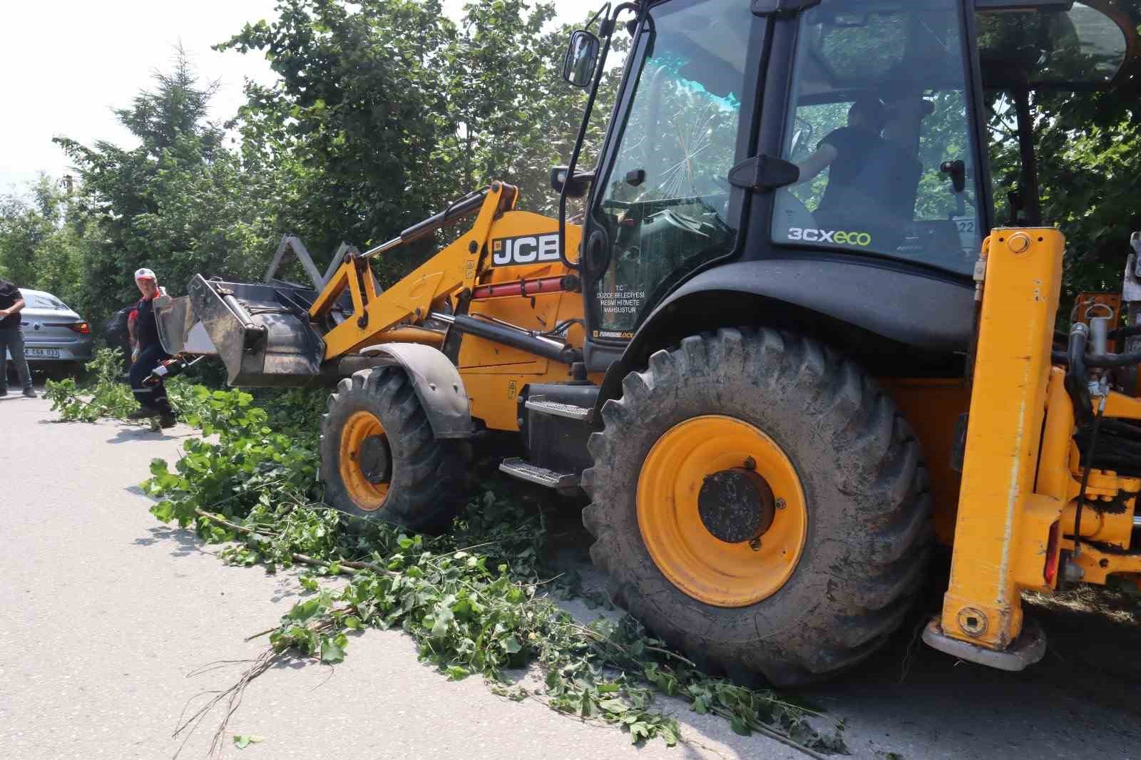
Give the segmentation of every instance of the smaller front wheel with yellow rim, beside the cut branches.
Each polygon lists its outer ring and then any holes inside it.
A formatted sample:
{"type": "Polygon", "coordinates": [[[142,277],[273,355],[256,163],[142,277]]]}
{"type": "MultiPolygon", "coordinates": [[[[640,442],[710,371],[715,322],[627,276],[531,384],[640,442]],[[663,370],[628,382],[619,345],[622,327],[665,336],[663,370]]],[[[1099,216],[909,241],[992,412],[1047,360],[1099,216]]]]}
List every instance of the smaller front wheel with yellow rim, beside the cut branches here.
{"type": "Polygon", "coordinates": [[[325,501],[348,516],[442,533],[463,504],[467,459],[466,444],[432,435],[398,367],[361,370],[329,397],[321,479],[325,501]]]}

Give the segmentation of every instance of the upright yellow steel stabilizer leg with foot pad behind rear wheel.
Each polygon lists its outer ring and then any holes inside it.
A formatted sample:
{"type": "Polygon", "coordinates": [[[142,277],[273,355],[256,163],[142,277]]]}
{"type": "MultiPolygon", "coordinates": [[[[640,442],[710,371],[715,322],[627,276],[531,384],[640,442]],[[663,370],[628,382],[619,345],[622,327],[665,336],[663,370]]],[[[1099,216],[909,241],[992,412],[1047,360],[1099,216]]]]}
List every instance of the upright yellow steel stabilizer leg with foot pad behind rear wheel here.
{"type": "Polygon", "coordinates": [[[1035,628],[1020,638],[1020,592],[1042,587],[1044,542],[1066,504],[1035,493],[1063,249],[1052,228],[996,229],[984,243],[950,585],[941,617],[923,637],[942,652],[1006,670],[1045,653],[1035,628]],[[1036,579],[1023,577],[1030,566],[1036,579]]]}

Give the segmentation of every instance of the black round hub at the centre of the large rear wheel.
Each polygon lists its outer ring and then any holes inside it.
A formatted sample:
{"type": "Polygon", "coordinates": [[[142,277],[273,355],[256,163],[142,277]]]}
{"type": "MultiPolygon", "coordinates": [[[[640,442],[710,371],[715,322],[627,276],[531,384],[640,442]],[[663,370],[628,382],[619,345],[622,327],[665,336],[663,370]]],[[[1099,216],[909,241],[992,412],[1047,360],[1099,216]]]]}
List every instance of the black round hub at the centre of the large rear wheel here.
{"type": "Polygon", "coordinates": [[[776,516],[772,488],[753,470],[735,467],[705,478],[697,494],[702,525],[726,543],[764,535],[776,516]]]}

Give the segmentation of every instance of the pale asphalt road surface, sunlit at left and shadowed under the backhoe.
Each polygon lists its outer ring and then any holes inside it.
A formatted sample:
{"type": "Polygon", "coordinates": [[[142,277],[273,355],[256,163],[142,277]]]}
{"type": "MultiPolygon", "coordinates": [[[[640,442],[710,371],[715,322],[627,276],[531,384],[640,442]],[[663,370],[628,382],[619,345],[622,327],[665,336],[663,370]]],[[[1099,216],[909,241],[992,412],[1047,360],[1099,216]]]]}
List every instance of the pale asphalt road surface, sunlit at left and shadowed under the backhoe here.
{"type": "MultiPolygon", "coordinates": [[[[184,708],[244,665],[188,676],[257,656],[264,640],[244,637],[276,623],[297,583],[228,567],[147,512],[138,483],[153,458],[178,455],[189,429],[52,417],[42,399],[0,399],[0,758],[170,758],[184,708]]],[[[847,720],[860,758],[1141,757],[1135,620],[1029,614],[1044,623],[1051,654],[1025,673],[955,663],[909,646],[905,631],[866,666],[800,696],[847,720]]],[[[510,702],[478,679],[448,682],[416,661],[407,637],[367,631],[335,669],[282,666],[254,681],[229,733],[264,741],[237,750],[227,737],[224,757],[802,757],[683,706],[677,717],[687,745],[633,747],[614,728],[510,702]]],[[[181,757],[204,757],[213,726],[181,757]]]]}

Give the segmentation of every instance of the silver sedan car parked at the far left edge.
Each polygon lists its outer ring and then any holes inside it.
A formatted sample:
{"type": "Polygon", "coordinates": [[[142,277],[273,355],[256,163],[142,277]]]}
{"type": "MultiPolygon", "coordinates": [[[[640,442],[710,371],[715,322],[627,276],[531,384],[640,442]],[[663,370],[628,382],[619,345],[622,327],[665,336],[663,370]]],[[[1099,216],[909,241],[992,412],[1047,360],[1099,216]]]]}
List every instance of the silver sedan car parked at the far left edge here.
{"type": "MultiPolygon", "coordinates": [[[[19,324],[24,329],[24,357],[33,369],[66,373],[91,358],[91,325],[51,293],[19,289],[24,310],[19,324]]],[[[5,356],[11,366],[11,354],[5,356]]]]}

